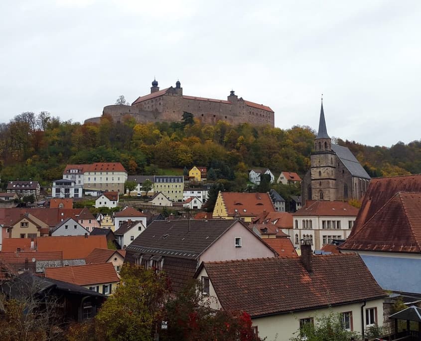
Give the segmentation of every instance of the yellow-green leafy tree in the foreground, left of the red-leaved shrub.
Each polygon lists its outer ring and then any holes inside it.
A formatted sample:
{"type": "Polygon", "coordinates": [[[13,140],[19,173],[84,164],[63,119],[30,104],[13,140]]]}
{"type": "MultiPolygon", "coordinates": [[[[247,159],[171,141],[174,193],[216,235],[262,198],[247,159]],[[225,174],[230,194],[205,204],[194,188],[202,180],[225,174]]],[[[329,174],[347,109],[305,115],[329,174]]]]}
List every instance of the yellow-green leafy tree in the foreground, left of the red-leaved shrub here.
{"type": "Polygon", "coordinates": [[[123,266],[120,276],[122,284],[95,318],[96,331],[104,336],[103,340],[152,340],[155,326],[164,315],[169,294],[167,277],[130,264],[123,266]]]}

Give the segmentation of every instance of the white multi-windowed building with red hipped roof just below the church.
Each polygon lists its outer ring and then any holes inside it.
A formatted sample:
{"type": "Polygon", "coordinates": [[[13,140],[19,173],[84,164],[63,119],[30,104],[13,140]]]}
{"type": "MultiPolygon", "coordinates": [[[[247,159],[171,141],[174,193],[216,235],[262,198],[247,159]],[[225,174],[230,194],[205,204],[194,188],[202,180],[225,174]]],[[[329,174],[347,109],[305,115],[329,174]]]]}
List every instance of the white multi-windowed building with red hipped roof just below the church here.
{"type": "Polygon", "coordinates": [[[346,239],[358,214],[358,208],[344,201],[307,200],[293,216],[291,241],[309,240],[313,250],[320,250],[333,239],[346,239]]]}

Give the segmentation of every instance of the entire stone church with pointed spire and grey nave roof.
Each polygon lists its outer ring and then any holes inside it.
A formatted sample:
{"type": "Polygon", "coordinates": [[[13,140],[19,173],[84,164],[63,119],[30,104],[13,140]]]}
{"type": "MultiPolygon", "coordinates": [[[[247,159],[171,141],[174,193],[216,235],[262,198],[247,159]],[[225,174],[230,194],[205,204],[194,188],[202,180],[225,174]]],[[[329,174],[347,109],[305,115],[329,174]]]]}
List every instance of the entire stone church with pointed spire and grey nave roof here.
{"type": "Polygon", "coordinates": [[[332,144],[327,134],[323,102],[310,161],[302,181],[302,200],[361,199],[367,191],[370,175],[348,148],[332,144]]]}

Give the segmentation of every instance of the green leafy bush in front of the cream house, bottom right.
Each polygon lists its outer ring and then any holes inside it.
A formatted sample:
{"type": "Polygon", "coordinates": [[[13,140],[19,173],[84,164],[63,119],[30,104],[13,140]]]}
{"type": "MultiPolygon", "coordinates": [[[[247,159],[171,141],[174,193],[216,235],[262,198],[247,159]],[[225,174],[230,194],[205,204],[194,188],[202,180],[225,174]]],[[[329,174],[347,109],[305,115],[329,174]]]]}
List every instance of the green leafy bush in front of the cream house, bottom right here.
{"type": "Polygon", "coordinates": [[[356,338],[355,332],[344,329],[342,314],[331,313],[315,319],[314,323],[306,323],[296,331],[289,340],[301,341],[305,336],[307,341],[349,341],[356,338]]]}

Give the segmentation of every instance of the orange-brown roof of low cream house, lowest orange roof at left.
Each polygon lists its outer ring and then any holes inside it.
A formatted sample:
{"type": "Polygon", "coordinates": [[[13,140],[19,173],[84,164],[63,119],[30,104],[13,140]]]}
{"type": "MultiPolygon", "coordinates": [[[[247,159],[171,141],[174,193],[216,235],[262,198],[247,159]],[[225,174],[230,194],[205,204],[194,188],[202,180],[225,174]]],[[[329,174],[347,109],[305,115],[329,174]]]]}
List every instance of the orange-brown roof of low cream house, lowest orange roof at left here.
{"type": "Polygon", "coordinates": [[[119,282],[112,263],[46,268],[45,277],[76,285],[119,282]]]}

